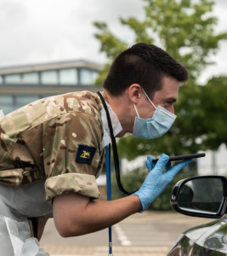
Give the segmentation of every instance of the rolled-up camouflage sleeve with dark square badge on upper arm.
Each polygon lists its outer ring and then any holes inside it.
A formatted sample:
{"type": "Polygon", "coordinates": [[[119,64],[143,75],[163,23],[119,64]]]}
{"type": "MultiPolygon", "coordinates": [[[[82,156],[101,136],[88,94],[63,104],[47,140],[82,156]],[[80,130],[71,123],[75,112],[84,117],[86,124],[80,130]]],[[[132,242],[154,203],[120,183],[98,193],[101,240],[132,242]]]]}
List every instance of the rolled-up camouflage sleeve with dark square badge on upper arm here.
{"type": "Polygon", "coordinates": [[[101,121],[88,113],[65,113],[44,125],[45,189],[50,204],[55,196],[68,192],[99,198],[95,176],[102,136],[101,121]],[[88,150],[81,150],[84,147],[88,150]]]}

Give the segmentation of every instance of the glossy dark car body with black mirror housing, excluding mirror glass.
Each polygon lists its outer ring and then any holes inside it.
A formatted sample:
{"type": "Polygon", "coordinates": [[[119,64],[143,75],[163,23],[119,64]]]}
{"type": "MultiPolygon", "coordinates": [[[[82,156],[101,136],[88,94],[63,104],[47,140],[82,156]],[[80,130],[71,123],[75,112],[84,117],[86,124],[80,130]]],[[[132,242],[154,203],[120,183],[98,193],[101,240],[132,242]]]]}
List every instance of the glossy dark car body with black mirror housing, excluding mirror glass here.
{"type": "MultiPolygon", "coordinates": [[[[178,197],[179,192],[178,189],[182,189],[182,183],[185,181],[193,181],[198,179],[204,179],[204,178],[219,178],[219,177],[211,177],[211,176],[204,176],[204,177],[192,177],[189,179],[184,179],[177,183],[175,187],[173,188],[173,192],[171,195],[171,204],[175,211],[183,213],[185,215],[189,216],[195,216],[195,217],[204,217],[204,218],[210,218],[212,217],[208,212],[198,212],[198,211],[189,211],[185,210],[182,211],[178,207],[178,197]],[[177,191],[177,192],[176,192],[177,191]],[[206,217],[207,215],[207,217],[206,217]]],[[[225,181],[225,177],[222,178],[225,181]]],[[[220,184],[221,185],[221,184],[220,184]]],[[[225,184],[226,187],[226,184],[225,184]]],[[[202,194],[202,189],[200,189],[200,193],[202,194]]],[[[224,189],[224,200],[221,203],[220,211],[226,213],[226,188],[224,189]],[[223,209],[222,209],[223,208],[223,209]]],[[[200,204],[202,201],[200,202],[200,204]]],[[[219,211],[219,212],[220,212],[219,211]]],[[[183,234],[181,234],[178,238],[178,240],[173,245],[172,249],[169,253],[167,253],[168,256],[223,256],[227,255],[227,215],[223,215],[222,218],[218,217],[218,214],[213,215],[213,218],[218,218],[217,220],[208,223],[208,224],[202,224],[200,226],[194,227],[190,230],[186,230],[183,234]]]]}

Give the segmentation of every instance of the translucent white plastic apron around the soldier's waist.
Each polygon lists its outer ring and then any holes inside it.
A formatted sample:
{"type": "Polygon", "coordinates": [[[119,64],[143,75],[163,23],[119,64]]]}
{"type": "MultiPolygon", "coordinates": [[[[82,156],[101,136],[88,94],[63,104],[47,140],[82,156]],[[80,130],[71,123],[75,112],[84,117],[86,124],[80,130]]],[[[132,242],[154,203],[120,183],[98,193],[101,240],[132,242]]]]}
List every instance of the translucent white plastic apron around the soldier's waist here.
{"type": "MultiPolygon", "coordinates": [[[[0,119],[3,111],[0,110],[0,119]]],[[[52,212],[45,199],[45,180],[20,186],[0,184],[0,255],[49,256],[31,232],[27,217],[52,212]]]]}

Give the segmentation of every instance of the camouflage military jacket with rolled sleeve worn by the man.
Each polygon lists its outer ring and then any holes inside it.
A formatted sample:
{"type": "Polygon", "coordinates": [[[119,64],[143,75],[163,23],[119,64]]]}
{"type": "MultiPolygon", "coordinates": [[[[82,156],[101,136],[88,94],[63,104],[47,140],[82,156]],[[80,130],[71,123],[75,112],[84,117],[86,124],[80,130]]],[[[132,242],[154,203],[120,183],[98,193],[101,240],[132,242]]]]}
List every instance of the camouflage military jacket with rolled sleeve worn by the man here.
{"type": "Polygon", "coordinates": [[[71,191],[99,198],[101,109],[97,94],[81,91],[32,102],[0,119],[0,183],[46,179],[50,204],[71,191]]]}

